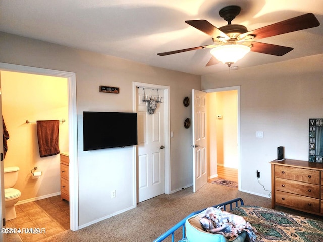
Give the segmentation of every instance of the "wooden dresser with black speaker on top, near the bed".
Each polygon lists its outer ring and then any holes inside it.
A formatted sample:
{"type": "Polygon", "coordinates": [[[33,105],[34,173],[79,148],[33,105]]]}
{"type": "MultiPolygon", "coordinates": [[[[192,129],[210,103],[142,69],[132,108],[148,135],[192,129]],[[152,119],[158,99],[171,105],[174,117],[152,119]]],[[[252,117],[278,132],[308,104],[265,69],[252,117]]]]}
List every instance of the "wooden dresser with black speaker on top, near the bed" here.
{"type": "Polygon", "coordinates": [[[300,160],[274,160],[272,208],[275,205],[323,214],[323,164],[300,160]]]}

